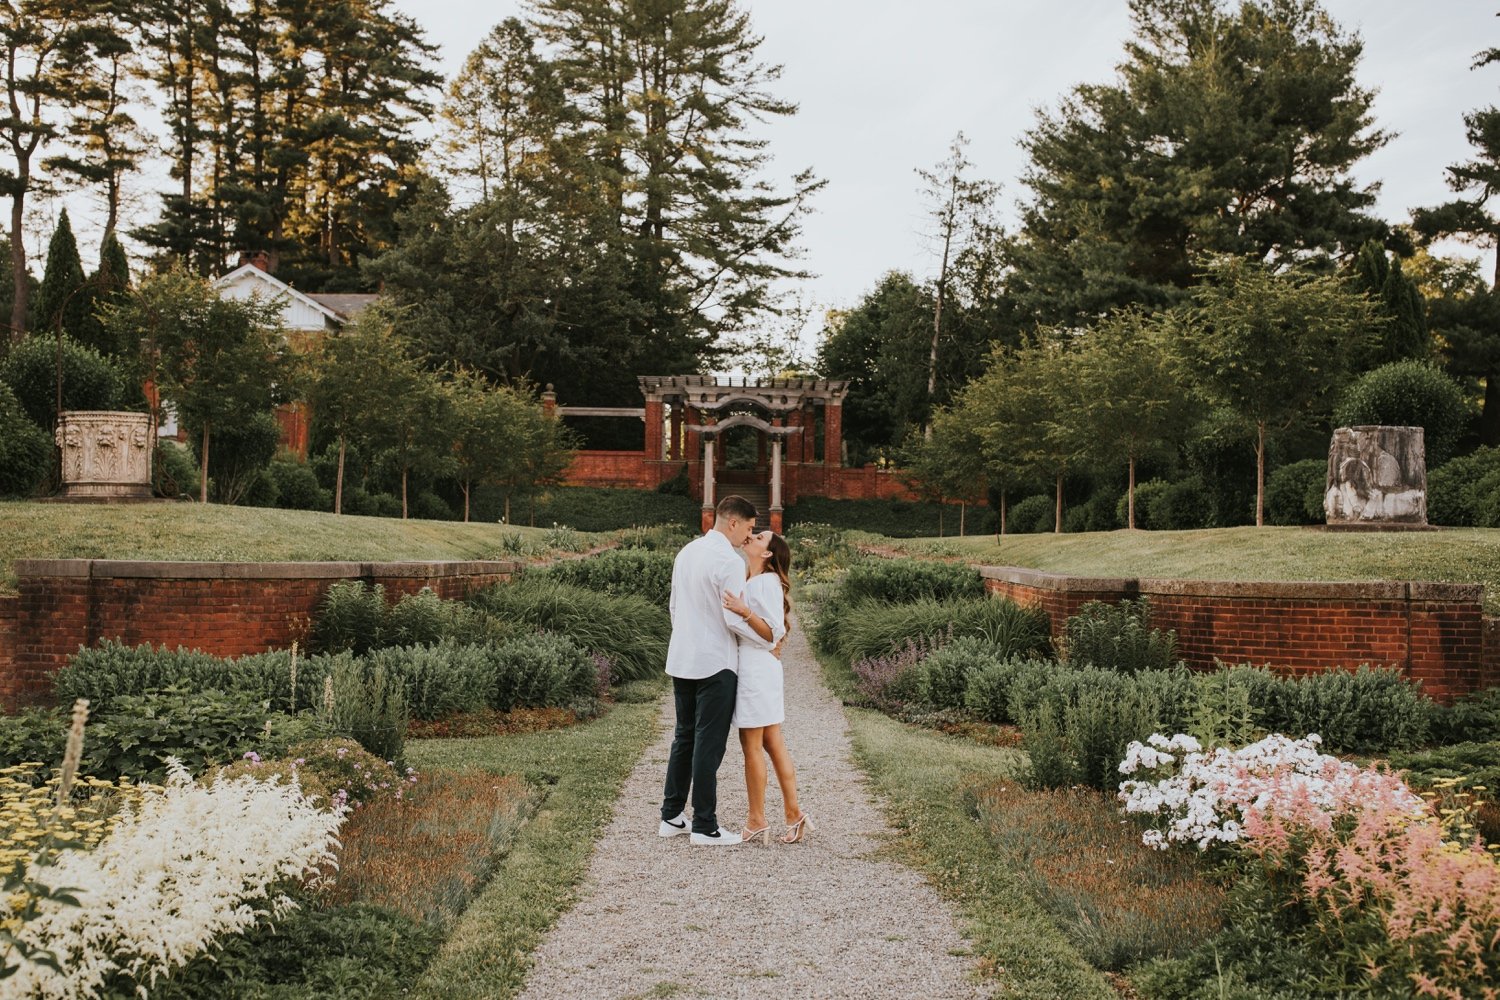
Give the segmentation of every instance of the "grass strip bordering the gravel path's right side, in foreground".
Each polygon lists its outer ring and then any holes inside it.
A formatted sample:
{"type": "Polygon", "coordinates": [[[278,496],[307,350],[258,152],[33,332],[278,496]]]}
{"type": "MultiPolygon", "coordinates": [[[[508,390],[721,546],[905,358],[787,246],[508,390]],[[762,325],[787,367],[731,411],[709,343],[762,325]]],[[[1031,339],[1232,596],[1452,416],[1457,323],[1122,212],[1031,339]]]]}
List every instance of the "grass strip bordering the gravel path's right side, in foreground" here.
{"type": "MultiPolygon", "coordinates": [[[[836,693],[850,690],[849,669],[824,658],[836,693]]],[[[1014,778],[1017,750],[981,747],[848,708],[855,760],[870,775],[891,823],[898,856],[951,901],[996,996],[1052,1000],[1114,997],[1108,981],[1036,904],[1022,874],[1006,865],[972,816],[972,790],[1014,778]]]]}

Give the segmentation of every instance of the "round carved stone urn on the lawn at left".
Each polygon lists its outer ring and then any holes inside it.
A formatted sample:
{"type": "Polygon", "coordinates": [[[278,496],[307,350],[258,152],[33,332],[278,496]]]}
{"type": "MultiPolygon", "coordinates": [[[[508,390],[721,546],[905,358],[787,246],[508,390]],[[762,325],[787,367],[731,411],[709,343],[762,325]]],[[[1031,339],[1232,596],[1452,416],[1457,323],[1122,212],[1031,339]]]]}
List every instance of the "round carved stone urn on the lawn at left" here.
{"type": "Polygon", "coordinates": [[[152,417],[106,409],[68,409],[57,424],[63,450],[62,499],[152,496],[152,417]]]}

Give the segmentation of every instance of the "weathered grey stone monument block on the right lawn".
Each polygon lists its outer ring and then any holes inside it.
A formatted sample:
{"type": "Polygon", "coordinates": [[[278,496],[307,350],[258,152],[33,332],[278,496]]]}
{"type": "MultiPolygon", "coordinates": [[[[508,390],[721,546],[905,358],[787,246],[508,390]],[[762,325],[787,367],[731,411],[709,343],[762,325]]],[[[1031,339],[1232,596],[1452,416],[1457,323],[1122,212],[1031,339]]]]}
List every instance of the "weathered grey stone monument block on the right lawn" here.
{"type": "Polygon", "coordinates": [[[1420,427],[1340,427],[1328,448],[1323,511],[1330,528],[1426,525],[1420,427]]]}

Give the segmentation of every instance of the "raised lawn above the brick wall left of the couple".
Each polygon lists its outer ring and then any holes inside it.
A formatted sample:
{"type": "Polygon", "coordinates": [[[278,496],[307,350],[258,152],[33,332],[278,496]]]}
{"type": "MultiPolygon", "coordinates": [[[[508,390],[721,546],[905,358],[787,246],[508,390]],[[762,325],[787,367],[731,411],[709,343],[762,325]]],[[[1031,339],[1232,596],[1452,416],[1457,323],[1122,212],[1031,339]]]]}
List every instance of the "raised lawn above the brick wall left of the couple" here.
{"type": "Polygon", "coordinates": [[[504,540],[518,534],[528,550],[538,550],[548,532],[488,522],[465,525],[224,504],[0,502],[0,594],[15,592],[15,559],[513,559],[504,540]]]}

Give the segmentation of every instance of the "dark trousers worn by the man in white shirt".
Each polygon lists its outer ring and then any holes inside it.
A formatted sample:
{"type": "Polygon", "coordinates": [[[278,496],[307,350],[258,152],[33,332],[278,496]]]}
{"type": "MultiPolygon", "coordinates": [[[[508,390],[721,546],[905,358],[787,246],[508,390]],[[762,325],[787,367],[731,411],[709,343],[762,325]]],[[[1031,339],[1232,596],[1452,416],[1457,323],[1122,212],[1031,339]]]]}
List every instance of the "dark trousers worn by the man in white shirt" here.
{"type": "Polygon", "coordinates": [[[729,742],[729,723],[735,715],[740,675],[720,670],[711,678],[688,681],[672,678],[676,702],[676,732],[666,762],[666,789],[662,793],[662,819],[675,820],[693,793],[693,832],[718,829],[718,765],[729,742]]]}

